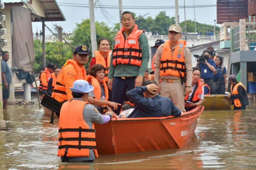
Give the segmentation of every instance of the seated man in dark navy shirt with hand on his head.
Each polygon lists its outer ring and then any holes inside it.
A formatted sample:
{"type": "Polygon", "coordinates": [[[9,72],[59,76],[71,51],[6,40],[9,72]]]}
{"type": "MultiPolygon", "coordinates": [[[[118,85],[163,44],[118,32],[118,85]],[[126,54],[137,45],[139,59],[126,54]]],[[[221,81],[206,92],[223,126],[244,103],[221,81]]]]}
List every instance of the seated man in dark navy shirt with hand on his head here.
{"type": "Polygon", "coordinates": [[[126,96],[136,105],[128,118],[181,116],[181,111],[169,97],[161,97],[154,80],[143,82],[142,87],[137,86],[127,91],[126,96]],[[141,95],[145,97],[142,97],[141,95]]]}

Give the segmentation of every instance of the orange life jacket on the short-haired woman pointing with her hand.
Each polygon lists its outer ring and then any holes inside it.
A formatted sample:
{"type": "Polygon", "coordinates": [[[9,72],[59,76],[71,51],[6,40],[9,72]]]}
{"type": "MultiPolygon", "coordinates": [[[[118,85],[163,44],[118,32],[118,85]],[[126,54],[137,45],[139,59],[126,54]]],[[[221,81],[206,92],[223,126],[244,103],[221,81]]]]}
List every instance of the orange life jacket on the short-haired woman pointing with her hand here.
{"type": "MultiPolygon", "coordinates": [[[[93,89],[93,93],[95,95],[95,99],[98,99],[100,100],[100,97],[101,97],[101,88],[100,88],[100,83],[99,81],[91,76],[91,75],[88,75],[87,78],[86,78],[86,81],[91,83],[91,85],[94,87],[93,89]]],[[[106,83],[104,81],[102,81],[102,84],[104,86],[104,92],[105,92],[105,101],[108,101],[109,99],[109,90],[108,90],[108,86],[106,85],[106,83]]]]}

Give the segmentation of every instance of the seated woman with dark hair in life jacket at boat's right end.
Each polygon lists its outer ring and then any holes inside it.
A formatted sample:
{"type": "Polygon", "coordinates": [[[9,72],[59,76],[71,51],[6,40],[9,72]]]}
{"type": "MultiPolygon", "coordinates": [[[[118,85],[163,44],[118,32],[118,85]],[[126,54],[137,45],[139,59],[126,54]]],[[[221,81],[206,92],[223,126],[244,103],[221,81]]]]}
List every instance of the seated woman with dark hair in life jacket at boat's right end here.
{"type": "Polygon", "coordinates": [[[189,111],[203,103],[203,84],[200,82],[201,70],[193,67],[192,72],[192,92],[185,96],[185,110],[189,111]]]}

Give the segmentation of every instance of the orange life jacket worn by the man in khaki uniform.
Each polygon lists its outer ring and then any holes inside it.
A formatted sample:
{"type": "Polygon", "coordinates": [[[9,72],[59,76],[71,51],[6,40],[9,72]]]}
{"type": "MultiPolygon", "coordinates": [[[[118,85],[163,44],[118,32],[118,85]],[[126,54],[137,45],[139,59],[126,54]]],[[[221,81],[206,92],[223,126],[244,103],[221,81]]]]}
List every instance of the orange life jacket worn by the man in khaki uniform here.
{"type": "Polygon", "coordinates": [[[180,40],[172,54],[170,48],[170,41],[165,41],[163,44],[163,51],[160,62],[160,75],[174,75],[183,77],[186,72],[184,60],[184,48],[186,48],[186,41],[180,40]]]}

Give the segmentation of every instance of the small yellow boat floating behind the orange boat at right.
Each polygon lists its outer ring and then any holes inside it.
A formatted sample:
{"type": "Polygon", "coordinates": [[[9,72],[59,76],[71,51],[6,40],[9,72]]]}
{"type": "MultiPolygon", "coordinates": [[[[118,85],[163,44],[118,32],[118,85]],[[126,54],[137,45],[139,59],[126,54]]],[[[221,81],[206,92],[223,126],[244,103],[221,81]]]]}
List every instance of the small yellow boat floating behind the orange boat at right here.
{"type": "Polygon", "coordinates": [[[231,110],[231,100],[226,95],[205,95],[202,106],[205,110],[231,110]]]}

